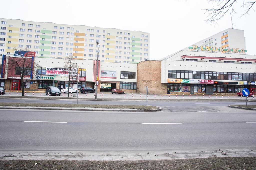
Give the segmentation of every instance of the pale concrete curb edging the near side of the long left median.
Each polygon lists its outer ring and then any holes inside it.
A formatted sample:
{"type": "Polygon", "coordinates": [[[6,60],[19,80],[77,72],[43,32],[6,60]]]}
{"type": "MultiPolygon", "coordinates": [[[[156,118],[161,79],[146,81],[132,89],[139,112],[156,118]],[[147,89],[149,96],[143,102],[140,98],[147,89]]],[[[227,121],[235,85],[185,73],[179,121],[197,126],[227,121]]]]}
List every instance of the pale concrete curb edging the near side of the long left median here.
{"type": "Polygon", "coordinates": [[[123,112],[156,112],[161,111],[163,108],[158,109],[120,109],[120,108],[63,108],[63,107],[26,107],[26,106],[0,106],[0,109],[43,109],[43,110],[82,110],[82,111],[123,111],[123,112]]]}

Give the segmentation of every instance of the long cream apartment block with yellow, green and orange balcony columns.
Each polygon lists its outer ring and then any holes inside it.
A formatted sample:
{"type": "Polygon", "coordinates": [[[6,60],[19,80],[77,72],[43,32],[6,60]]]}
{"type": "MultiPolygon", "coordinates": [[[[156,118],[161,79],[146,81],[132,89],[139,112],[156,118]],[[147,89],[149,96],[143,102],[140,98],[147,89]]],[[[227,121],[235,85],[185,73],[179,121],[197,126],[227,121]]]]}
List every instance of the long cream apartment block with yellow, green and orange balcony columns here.
{"type": "Polygon", "coordinates": [[[150,59],[150,33],[115,28],[66,25],[52,22],[0,18],[0,53],[13,55],[13,48],[36,52],[39,58],[138,63],[150,59]]]}

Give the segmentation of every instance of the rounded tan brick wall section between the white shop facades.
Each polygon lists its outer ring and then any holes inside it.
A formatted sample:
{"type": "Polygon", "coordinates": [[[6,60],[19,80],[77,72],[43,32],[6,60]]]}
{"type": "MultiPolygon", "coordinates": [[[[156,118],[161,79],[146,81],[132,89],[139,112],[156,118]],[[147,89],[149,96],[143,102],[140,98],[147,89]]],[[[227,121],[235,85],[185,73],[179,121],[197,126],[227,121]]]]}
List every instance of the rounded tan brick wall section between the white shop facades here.
{"type": "Polygon", "coordinates": [[[137,65],[138,93],[167,94],[167,85],[161,83],[161,61],[142,61],[137,65]]]}

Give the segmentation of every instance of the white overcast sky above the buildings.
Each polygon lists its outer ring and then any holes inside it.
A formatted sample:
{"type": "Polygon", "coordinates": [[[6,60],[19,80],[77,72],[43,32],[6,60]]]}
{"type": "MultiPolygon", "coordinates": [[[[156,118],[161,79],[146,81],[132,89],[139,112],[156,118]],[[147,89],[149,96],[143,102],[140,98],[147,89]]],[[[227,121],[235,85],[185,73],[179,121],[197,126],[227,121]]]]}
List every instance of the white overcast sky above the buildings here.
{"type": "MultiPolygon", "coordinates": [[[[150,58],[156,60],[232,28],[229,16],[218,24],[206,23],[202,9],[213,5],[202,0],[8,0],[1,6],[1,18],[149,32],[150,58]]],[[[233,18],[234,29],[244,30],[247,54],[256,54],[255,21],[253,11],[241,19],[239,15],[233,18]]]]}

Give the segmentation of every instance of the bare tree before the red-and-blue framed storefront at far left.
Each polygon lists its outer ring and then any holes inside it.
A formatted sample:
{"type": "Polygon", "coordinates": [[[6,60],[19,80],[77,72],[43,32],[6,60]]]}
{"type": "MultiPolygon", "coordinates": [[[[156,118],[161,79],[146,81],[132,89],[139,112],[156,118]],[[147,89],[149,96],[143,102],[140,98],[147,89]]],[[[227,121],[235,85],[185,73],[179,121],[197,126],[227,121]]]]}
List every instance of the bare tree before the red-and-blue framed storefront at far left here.
{"type": "Polygon", "coordinates": [[[21,55],[20,51],[30,51],[27,48],[25,50],[18,50],[16,47],[14,47],[13,49],[14,51],[19,51],[18,53],[20,55],[14,57],[6,57],[8,65],[7,67],[5,67],[5,70],[8,72],[15,71],[16,75],[20,76],[22,96],[25,96],[23,80],[25,76],[32,75],[33,77],[34,75],[36,75],[36,70],[34,68],[37,66],[37,64],[34,62],[33,57],[28,55],[28,53],[26,53],[25,56],[21,55]]]}

